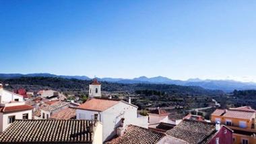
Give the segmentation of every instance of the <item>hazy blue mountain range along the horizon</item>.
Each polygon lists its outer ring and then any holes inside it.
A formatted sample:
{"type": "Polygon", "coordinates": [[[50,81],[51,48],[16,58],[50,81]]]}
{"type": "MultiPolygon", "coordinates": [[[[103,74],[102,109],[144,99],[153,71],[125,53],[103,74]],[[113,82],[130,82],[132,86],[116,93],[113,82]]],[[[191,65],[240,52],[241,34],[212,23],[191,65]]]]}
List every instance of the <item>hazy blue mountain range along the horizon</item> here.
{"type": "MultiPolygon", "coordinates": [[[[75,78],[79,80],[91,80],[88,76],[63,76],[49,73],[35,73],[35,74],[0,74],[1,79],[20,78],[20,77],[56,77],[56,78],[75,78]]],[[[176,84],[181,86],[201,86],[202,88],[210,90],[223,90],[225,92],[231,92],[232,90],[256,90],[256,83],[254,82],[238,82],[235,80],[200,80],[199,78],[189,80],[172,80],[163,76],[157,76],[153,78],[147,78],[141,76],[139,78],[126,79],[126,78],[97,78],[100,81],[117,82],[123,84],[136,84],[136,83],[148,83],[148,84],[176,84]]]]}

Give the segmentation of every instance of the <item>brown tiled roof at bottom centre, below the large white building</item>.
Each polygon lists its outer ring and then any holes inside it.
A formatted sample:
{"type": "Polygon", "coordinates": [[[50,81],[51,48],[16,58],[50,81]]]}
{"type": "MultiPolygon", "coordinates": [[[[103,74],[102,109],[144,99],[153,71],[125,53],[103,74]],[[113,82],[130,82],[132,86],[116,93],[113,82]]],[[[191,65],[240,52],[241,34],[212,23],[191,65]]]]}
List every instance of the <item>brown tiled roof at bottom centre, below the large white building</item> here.
{"type": "Polygon", "coordinates": [[[164,136],[164,133],[137,127],[135,125],[129,125],[121,137],[117,137],[107,142],[107,144],[150,144],[157,143],[164,136]]]}

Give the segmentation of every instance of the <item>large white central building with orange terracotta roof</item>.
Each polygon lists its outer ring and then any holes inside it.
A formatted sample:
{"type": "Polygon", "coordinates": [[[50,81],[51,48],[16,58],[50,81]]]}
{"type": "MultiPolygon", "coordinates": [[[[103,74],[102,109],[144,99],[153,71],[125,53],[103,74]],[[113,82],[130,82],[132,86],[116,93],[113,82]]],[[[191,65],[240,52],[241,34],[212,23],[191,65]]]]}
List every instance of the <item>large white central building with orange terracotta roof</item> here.
{"type": "Polygon", "coordinates": [[[148,117],[137,115],[137,106],[123,100],[92,98],[78,106],[77,119],[97,120],[102,123],[103,141],[117,134],[117,128],[137,125],[148,128],[148,117]]]}

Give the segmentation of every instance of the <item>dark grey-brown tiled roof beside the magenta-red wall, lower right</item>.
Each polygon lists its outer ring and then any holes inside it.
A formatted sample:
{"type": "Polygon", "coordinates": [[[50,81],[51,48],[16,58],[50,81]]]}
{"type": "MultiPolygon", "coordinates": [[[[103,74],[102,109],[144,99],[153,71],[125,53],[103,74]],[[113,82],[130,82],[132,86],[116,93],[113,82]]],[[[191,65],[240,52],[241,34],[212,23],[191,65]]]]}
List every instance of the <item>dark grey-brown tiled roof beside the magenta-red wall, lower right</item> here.
{"type": "Polygon", "coordinates": [[[203,143],[215,132],[216,129],[213,123],[185,119],[179,125],[167,131],[166,134],[188,143],[203,143]]]}

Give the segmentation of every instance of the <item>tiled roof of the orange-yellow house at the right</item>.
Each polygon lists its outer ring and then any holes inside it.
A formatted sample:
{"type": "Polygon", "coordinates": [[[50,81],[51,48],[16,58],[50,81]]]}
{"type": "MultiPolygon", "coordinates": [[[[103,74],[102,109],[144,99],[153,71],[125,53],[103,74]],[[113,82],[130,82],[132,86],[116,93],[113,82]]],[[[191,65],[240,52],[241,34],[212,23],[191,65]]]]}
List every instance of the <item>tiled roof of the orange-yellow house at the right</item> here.
{"type": "Polygon", "coordinates": [[[255,111],[243,111],[239,109],[216,109],[212,115],[222,116],[222,117],[230,117],[230,118],[237,118],[237,119],[252,119],[255,117],[255,111]]]}

